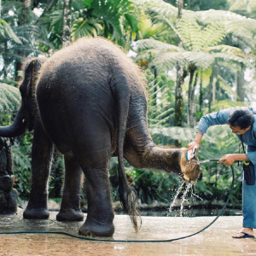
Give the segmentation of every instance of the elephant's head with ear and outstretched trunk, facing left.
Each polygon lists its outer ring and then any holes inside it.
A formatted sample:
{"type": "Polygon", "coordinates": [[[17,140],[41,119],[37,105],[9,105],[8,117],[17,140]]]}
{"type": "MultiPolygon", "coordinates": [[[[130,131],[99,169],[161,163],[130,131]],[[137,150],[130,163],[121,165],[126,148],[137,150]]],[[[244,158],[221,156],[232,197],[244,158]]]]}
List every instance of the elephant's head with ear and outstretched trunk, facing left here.
{"type": "Polygon", "coordinates": [[[24,79],[20,84],[21,106],[12,125],[0,126],[0,137],[17,137],[26,129],[33,130],[34,118],[37,113],[34,90],[39,70],[44,61],[44,59],[32,59],[24,63],[24,79]]]}

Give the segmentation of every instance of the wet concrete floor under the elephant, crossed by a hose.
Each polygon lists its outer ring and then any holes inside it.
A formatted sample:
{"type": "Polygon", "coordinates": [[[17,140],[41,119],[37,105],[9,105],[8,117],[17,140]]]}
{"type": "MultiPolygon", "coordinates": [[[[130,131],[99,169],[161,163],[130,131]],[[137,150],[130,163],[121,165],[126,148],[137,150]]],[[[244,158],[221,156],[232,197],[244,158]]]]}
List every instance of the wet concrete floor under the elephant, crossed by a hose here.
{"type": "MultiPolygon", "coordinates": [[[[27,220],[17,215],[0,215],[0,232],[19,230],[63,231],[78,235],[83,222],[58,222],[57,212],[47,220],[27,220]]],[[[84,218],[86,214],[84,214],[84,218]]],[[[210,224],[215,217],[142,217],[143,226],[135,234],[130,218],[116,215],[114,240],[169,240],[189,236],[210,224]]],[[[255,255],[256,239],[233,239],[241,229],[242,217],[220,217],[198,235],[172,242],[88,241],[58,234],[0,235],[0,255],[255,255]]]]}

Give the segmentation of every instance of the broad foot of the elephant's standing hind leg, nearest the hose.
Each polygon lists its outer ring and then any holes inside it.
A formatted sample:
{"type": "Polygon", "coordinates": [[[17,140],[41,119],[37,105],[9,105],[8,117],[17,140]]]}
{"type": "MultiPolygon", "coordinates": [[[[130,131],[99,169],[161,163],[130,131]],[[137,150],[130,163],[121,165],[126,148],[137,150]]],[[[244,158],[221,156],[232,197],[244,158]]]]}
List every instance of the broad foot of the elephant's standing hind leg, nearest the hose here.
{"type": "Polygon", "coordinates": [[[79,229],[82,236],[113,236],[113,224],[87,224],[86,222],[79,229]]]}

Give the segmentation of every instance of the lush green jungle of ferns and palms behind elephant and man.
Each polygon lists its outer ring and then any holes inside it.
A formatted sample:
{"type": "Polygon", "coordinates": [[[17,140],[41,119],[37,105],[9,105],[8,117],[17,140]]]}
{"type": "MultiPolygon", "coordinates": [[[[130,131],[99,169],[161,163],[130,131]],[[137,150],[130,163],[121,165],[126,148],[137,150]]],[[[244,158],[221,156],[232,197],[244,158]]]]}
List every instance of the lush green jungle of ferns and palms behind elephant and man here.
{"type": "MultiPolygon", "coordinates": [[[[256,0],[0,0],[0,125],[9,125],[20,106],[22,61],[49,57],[77,38],[108,38],[143,69],[148,80],[148,127],[154,143],[186,147],[203,114],[234,106],[255,106],[256,0]]],[[[15,189],[30,193],[32,132],[12,139],[15,189]]],[[[239,152],[227,125],[213,126],[197,152],[200,160],[239,152]]],[[[235,192],[230,207],[241,207],[241,165],[234,165],[235,192]]],[[[61,200],[63,158],[56,150],[49,177],[49,198],[61,200]]],[[[229,168],[201,165],[195,194],[204,201],[225,201],[229,168]]],[[[126,173],[142,204],[169,204],[181,184],[165,172],[126,173]]],[[[119,200],[117,160],[109,178],[119,200]]],[[[82,201],[86,201],[84,191],[82,201]]],[[[200,200],[195,197],[195,200],[200,200]]]]}

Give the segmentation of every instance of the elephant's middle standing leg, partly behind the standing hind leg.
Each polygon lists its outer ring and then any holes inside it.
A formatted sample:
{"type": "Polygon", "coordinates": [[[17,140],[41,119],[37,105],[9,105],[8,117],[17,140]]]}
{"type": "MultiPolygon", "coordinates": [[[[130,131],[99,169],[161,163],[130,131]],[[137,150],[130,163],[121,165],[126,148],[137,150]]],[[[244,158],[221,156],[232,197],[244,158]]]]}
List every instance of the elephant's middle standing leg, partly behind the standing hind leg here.
{"type": "Polygon", "coordinates": [[[80,187],[82,169],[73,155],[65,155],[65,181],[62,193],[61,210],[56,219],[59,221],[84,219],[80,210],[80,187]]]}

